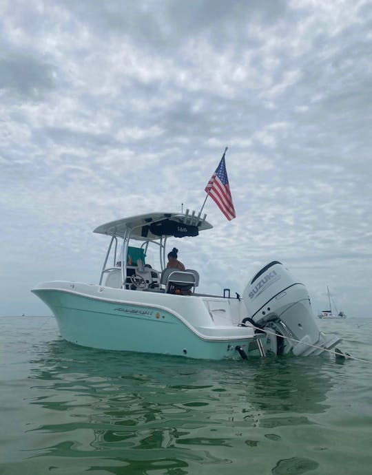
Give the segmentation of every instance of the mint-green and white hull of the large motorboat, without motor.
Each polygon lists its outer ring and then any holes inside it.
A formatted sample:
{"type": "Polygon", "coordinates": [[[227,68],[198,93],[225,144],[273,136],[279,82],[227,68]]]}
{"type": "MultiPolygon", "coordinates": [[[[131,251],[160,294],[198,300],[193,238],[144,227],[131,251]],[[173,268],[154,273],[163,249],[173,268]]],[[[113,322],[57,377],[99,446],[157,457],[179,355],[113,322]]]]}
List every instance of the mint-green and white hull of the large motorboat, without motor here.
{"type": "Polygon", "coordinates": [[[196,359],[260,355],[266,335],[238,326],[242,302],[169,295],[76,282],[46,282],[32,291],[49,306],[73,344],[196,359]]]}

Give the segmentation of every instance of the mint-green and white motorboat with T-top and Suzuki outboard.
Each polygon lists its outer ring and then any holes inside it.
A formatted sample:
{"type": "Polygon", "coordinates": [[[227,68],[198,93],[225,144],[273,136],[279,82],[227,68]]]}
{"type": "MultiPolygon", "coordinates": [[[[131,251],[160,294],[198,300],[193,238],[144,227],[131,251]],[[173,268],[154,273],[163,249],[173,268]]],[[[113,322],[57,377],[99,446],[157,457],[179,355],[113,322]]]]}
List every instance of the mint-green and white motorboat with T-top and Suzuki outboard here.
{"type": "Polygon", "coordinates": [[[102,224],[107,252],[97,284],[52,281],[32,289],[72,344],[193,359],[319,355],[340,338],[320,332],[309,293],[278,261],[260,268],[242,296],[198,292],[196,269],[167,268],[167,240],[213,226],[190,212],[152,212],[102,224]],[[156,264],[147,262],[154,253],[156,264]]]}

